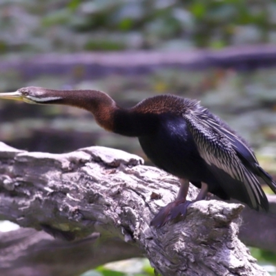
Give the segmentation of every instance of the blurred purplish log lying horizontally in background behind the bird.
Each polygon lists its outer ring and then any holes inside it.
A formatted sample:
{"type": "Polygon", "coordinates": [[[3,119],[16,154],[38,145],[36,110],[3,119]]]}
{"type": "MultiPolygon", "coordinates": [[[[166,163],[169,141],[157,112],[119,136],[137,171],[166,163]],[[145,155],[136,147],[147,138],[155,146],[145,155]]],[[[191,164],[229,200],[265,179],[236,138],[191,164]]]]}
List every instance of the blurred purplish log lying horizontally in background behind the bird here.
{"type": "Polygon", "coordinates": [[[201,70],[210,67],[255,70],[275,66],[276,46],[236,46],[221,50],[196,49],[185,51],[81,52],[14,57],[0,63],[0,72],[17,71],[30,79],[37,75],[77,75],[83,79],[110,73],[137,75],[158,68],[201,70]]]}

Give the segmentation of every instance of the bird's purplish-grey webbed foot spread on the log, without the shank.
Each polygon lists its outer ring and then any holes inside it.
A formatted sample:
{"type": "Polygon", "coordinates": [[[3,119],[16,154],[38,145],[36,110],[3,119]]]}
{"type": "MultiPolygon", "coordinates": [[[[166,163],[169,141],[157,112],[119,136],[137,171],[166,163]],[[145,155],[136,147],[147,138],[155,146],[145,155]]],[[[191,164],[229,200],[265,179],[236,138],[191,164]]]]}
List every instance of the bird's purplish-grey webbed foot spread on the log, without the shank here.
{"type": "Polygon", "coordinates": [[[191,203],[192,201],[185,199],[170,202],[167,206],[159,210],[159,213],[150,221],[150,226],[160,228],[172,219],[178,219],[179,217],[185,218],[187,207],[191,203]]]}

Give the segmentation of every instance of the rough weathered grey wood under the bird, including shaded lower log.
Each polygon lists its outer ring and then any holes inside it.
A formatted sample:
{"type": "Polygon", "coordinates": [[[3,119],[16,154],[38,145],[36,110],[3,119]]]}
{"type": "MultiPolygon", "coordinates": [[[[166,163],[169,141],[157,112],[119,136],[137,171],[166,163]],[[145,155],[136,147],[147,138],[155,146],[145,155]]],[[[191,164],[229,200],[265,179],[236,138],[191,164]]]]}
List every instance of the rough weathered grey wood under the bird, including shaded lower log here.
{"type": "MultiPolygon", "coordinates": [[[[136,155],[97,146],[57,155],[1,143],[0,161],[0,219],[24,227],[0,235],[2,275],[78,275],[141,255],[166,276],[268,275],[237,237],[241,204],[197,201],[184,221],[150,227],[179,182],[136,155]]],[[[188,197],[197,193],[190,187],[188,197]]]]}

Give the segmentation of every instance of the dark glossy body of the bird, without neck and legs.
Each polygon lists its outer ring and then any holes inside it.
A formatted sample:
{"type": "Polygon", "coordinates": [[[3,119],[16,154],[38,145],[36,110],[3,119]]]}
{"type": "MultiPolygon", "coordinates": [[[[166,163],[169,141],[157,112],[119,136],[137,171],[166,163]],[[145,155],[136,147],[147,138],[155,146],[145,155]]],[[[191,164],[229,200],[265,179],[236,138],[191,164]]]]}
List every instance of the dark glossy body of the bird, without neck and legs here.
{"type": "MultiPolygon", "coordinates": [[[[196,128],[196,126],[192,127],[193,130],[196,128]]],[[[259,183],[257,183],[259,188],[253,187],[255,189],[253,192],[255,195],[253,195],[248,187],[246,188],[244,179],[240,180],[239,177],[230,175],[231,170],[235,170],[235,165],[231,165],[229,159],[233,157],[228,155],[224,157],[224,142],[231,147],[235,159],[238,160],[237,166],[242,167],[242,170],[248,170],[250,177],[254,178],[253,175],[255,175],[265,179],[274,191],[275,182],[269,175],[266,179],[266,172],[262,168],[262,171],[259,170],[259,164],[246,141],[237,136],[224,121],[199,106],[197,101],[173,95],[160,95],[146,99],[129,110],[117,110],[114,131],[121,135],[138,137],[141,147],[152,163],[172,175],[188,179],[197,188],[201,188],[201,182],[204,182],[208,185],[208,191],[221,199],[234,198],[257,210],[259,207],[268,209],[268,201],[259,183]],[[196,142],[196,134],[190,132],[191,126],[188,127],[185,115],[197,117],[198,128],[201,128],[201,122],[204,124],[204,120],[213,120],[226,135],[222,134],[221,138],[213,139],[217,131],[209,132],[204,126],[204,133],[200,141],[196,142]],[[211,140],[207,141],[207,137],[211,137],[211,140]],[[222,148],[219,146],[221,143],[222,148]],[[222,160],[228,159],[226,167],[219,165],[221,161],[208,163],[202,157],[202,152],[199,152],[199,144],[206,146],[206,150],[213,148],[214,153],[211,152],[210,155],[219,157],[222,151],[222,160]],[[256,200],[253,199],[254,197],[256,200]]]]}

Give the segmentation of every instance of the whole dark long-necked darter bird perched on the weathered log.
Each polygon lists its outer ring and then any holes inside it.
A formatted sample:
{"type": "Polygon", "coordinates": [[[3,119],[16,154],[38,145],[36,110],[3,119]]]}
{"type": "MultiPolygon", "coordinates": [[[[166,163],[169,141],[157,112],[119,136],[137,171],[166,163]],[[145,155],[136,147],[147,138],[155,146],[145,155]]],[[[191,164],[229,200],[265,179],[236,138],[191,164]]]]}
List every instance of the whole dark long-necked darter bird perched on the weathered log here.
{"type": "Polygon", "coordinates": [[[104,129],[138,137],[152,163],[180,181],[177,199],[159,210],[152,226],[161,227],[186,216],[189,182],[201,188],[195,201],[205,199],[210,192],[221,199],[237,199],[255,210],[268,210],[260,180],[276,193],[275,181],[259,166],[246,141],[199,101],[159,95],[127,109],[97,90],[39,87],[1,93],[0,99],[83,108],[92,112],[104,129]]]}

